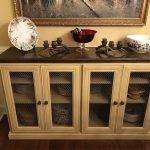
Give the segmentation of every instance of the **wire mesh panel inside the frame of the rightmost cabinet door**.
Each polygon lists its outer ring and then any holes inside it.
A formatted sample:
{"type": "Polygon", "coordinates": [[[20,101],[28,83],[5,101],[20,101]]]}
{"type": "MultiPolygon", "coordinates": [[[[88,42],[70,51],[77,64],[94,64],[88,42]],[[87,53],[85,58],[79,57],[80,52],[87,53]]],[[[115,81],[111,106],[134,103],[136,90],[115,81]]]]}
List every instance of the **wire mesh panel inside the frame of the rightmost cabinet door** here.
{"type": "Polygon", "coordinates": [[[144,129],[150,99],[150,72],[130,73],[126,99],[123,127],[144,129]]]}

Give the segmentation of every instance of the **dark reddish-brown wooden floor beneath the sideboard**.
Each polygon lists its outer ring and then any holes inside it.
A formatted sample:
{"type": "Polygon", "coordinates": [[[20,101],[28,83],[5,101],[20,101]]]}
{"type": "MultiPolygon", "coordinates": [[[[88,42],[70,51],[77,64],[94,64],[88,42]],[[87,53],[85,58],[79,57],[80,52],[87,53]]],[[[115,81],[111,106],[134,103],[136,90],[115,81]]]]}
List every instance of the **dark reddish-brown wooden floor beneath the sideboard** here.
{"type": "Polygon", "coordinates": [[[6,117],[0,122],[0,150],[150,150],[150,141],[8,140],[6,117]]]}

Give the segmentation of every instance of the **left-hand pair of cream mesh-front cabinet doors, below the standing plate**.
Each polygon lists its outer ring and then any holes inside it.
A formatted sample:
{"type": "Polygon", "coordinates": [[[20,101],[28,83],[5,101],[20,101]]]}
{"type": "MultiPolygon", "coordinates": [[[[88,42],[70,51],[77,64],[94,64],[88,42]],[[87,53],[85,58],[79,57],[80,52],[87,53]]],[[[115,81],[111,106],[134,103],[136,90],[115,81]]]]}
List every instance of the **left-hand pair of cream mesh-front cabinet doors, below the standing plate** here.
{"type": "Polygon", "coordinates": [[[4,65],[12,132],[79,132],[80,65],[4,65]]]}

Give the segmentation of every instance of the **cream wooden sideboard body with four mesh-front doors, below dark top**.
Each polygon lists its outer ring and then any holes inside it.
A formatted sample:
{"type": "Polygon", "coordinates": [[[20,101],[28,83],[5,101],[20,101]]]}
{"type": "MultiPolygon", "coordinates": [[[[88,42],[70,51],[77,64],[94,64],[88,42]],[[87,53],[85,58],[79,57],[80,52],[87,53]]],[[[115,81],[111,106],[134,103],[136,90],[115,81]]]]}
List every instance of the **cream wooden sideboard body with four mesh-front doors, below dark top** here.
{"type": "Polygon", "coordinates": [[[10,139],[150,138],[150,64],[3,64],[1,75],[10,139]]]}

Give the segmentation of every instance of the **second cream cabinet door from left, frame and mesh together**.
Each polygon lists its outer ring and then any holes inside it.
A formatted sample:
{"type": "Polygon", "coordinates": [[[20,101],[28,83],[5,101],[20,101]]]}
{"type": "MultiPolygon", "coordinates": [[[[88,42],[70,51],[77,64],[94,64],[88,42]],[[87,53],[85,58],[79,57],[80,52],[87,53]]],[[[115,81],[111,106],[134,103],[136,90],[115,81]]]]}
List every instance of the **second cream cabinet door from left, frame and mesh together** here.
{"type": "Polygon", "coordinates": [[[43,66],[46,128],[50,132],[78,132],[80,129],[80,66],[43,66]]]}

